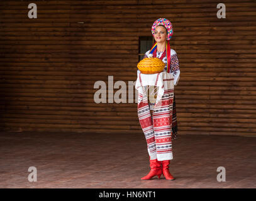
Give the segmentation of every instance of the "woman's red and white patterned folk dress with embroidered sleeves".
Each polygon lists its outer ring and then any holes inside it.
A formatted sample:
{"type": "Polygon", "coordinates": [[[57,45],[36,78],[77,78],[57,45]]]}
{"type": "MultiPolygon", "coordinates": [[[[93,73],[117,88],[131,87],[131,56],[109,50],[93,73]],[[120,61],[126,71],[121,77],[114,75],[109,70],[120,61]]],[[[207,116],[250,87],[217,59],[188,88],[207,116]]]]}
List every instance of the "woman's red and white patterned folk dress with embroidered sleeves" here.
{"type": "MultiPolygon", "coordinates": [[[[149,52],[150,50],[145,53],[144,58],[148,56],[149,52]]],[[[179,60],[177,58],[177,53],[174,50],[171,49],[170,53],[170,73],[173,75],[174,85],[177,85],[180,75],[179,60]]],[[[164,71],[166,72],[166,53],[155,51],[153,57],[160,58],[165,63],[164,71]]],[[[169,73],[167,73],[167,77],[168,74],[169,73]]],[[[140,71],[138,70],[138,77],[139,76],[140,71]]],[[[143,101],[138,104],[138,117],[143,133],[145,134],[150,158],[152,160],[157,158],[159,161],[172,160],[172,139],[177,138],[177,117],[174,89],[165,89],[164,95],[162,96],[164,105],[155,111],[153,109],[155,103],[150,102],[150,100],[142,94],[138,95],[143,99],[143,101]]]]}

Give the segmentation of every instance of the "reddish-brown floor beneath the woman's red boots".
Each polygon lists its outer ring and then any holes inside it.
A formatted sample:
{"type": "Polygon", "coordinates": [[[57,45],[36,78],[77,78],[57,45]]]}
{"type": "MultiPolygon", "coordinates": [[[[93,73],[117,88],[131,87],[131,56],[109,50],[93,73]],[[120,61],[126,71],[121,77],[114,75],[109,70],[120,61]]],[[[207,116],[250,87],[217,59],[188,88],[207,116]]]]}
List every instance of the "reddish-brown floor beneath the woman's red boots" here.
{"type": "Polygon", "coordinates": [[[143,134],[0,133],[1,188],[256,188],[256,138],[180,135],[170,172],[149,168],[143,134]],[[29,182],[35,166],[37,182],[29,182]],[[216,180],[226,169],[226,182],[216,180]]]}

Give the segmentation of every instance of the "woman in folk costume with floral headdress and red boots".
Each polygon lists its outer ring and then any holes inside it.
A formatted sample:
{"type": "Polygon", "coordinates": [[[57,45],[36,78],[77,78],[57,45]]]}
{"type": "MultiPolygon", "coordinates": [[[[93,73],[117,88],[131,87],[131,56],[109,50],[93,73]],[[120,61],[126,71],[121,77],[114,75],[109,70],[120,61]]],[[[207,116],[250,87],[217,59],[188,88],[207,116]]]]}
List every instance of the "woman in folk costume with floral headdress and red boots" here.
{"type": "MultiPolygon", "coordinates": [[[[152,26],[152,35],[155,39],[155,44],[152,46],[151,50],[145,53],[144,58],[148,57],[157,57],[162,62],[165,63],[164,71],[167,73],[172,73],[174,77],[174,85],[177,85],[179,81],[179,60],[177,58],[177,54],[174,50],[170,48],[169,40],[172,37],[173,30],[172,24],[168,19],[159,18],[157,19],[152,26]]],[[[140,71],[138,70],[138,74],[140,71]]],[[[169,81],[170,82],[170,81],[169,81]]],[[[154,86],[155,87],[155,86],[154,86]]],[[[156,87],[155,87],[156,91],[156,87]]],[[[172,90],[172,94],[174,95],[174,90],[172,90]]],[[[170,92],[165,91],[163,97],[170,96],[170,92]]],[[[148,95],[149,97],[149,95],[148,95]]],[[[172,97],[172,106],[167,106],[167,110],[169,109],[169,113],[161,112],[161,113],[154,113],[154,102],[150,102],[148,98],[148,107],[150,109],[150,114],[152,118],[151,129],[149,132],[149,127],[143,129],[145,134],[145,138],[147,140],[147,148],[148,154],[150,156],[150,172],[147,176],[143,177],[142,180],[150,180],[151,178],[158,176],[159,178],[163,174],[167,180],[175,180],[175,178],[170,174],[169,165],[170,160],[172,160],[172,139],[177,138],[177,119],[176,119],[176,109],[175,109],[175,95],[172,97]],[[172,112],[170,112],[170,108],[172,108],[172,112]],[[171,115],[172,113],[172,115],[171,115]],[[170,122],[171,125],[162,124],[160,129],[155,129],[155,120],[154,116],[164,116],[164,114],[169,115],[169,119],[172,121],[170,122]],[[152,131],[153,127],[153,131],[152,131]]],[[[145,108],[145,107],[144,107],[145,108]]],[[[142,116],[143,107],[138,105],[138,115],[142,116]]],[[[144,109],[145,111],[145,109],[144,109]]],[[[162,111],[162,110],[161,110],[162,111]]],[[[140,119],[140,117],[139,117],[140,119]]],[[[143,120],[140,119],[140,124],[143,126],[143,120]]],[[[162,120],[161,120],[162,121],[162,120]]],[[[159,126],[159,125],[158,125],[159,126]]]]}

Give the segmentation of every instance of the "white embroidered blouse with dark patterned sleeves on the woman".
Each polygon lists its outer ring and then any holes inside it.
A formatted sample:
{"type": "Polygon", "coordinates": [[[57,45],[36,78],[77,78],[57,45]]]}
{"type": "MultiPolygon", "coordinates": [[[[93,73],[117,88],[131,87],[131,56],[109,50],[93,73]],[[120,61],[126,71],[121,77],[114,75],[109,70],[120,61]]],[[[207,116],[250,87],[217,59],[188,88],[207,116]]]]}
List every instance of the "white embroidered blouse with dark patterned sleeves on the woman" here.
{"type": "MultiPolygon", "coordinates": [[[[147,58],[150,50],[145,53],[143,58],[147,58]]],[[[160,58],[162,53],[164,52],[157,52],[157,58],[160,58]]],[[[165,63],[165,68],[164,70],[167,71],[167,57],[165,56],[162,60],[165,63]]],[[[137,74],[140,72],[138,70],[137,74]]],[[[174,85],[177,85],[179,82],[179,75],[180,75],[180,70],[179,70],[179,59],[177,57],[177,53],[175,50],[170,49],[170,73],[174,75],[174,85]]]]}

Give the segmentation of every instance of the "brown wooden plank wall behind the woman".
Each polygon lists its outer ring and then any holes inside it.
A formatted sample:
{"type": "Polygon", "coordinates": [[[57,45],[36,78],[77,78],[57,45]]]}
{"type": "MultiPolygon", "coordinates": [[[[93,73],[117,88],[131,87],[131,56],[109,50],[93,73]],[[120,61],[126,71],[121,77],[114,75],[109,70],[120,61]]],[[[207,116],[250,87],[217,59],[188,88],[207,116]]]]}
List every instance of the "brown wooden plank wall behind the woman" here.
{"type": "Polygon", "coordinates": [[[136,103],[96,104],[94,83],[135,81],[138,37],[165,17],[179,134],[256,136],[255,1],[35,1],[37,19],[29,3],[0,2],[1,130],[142,134],[136,103]]]}

